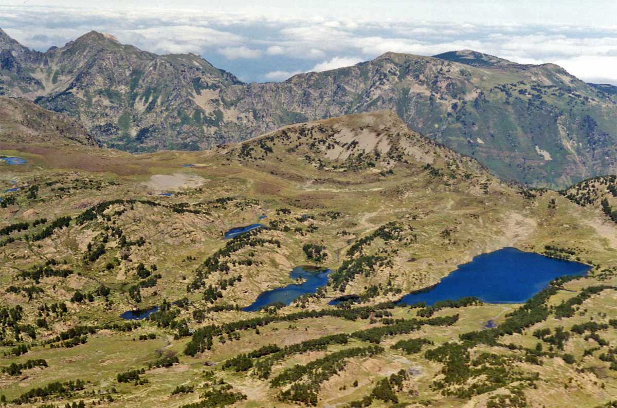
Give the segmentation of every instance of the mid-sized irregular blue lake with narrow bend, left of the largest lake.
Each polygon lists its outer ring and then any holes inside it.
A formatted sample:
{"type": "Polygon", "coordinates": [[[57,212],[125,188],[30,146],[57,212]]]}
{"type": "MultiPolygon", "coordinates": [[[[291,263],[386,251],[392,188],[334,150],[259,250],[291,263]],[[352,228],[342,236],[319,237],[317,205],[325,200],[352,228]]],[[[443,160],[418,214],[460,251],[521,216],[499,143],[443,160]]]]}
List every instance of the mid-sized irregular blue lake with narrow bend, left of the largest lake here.
{"type": "Polygon", "coordinates": [[[329,269],[319,269],[310,266],[294,267],[294,269],[289,272],[289,277],[291,277],[291,279],[304,279],[302,284],[291,284],[285,287],[262,292],[259,296],[257,296],[257,300],[242,310],[246,312],[254,312],[263,308],[263,306],[267,306],[268,304],[278,302],[290,304],[299,296],[302,296],[305,293],[315,293],[317,288],[328,284],[328,274],[330,272],[332,271],[329,269]]]}

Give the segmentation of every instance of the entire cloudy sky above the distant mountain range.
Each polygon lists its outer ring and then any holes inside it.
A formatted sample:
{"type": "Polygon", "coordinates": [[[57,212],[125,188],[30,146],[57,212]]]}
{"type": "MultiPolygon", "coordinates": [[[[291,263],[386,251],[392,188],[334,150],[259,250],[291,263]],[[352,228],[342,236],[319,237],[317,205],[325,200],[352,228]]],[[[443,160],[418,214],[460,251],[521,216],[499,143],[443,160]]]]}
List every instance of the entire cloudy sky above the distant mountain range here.
{"type": "Polygon", "coordinates": [[[616,16],[617,0],[0,0],[0,28],[33,49],[96,30],[157,54],[199,54],[245,82],[388,51],[473,49],[617,85],[616,16]]]}

